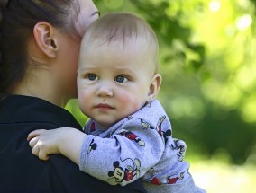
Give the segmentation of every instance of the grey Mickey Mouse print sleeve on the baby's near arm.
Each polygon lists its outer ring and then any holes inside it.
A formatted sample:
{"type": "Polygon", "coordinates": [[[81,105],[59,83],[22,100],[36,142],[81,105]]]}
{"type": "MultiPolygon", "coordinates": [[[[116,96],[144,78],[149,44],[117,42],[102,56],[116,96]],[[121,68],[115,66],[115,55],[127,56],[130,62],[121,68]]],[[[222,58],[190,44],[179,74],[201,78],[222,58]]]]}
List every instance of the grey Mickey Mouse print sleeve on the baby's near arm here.
{"type": "Polygon", "coordinates": [[[81,171],[109,184],[124,186],[160,161],[164,141],[140,118],[132,118],[109,138],[88,135],[80,155],[81,171]]]}

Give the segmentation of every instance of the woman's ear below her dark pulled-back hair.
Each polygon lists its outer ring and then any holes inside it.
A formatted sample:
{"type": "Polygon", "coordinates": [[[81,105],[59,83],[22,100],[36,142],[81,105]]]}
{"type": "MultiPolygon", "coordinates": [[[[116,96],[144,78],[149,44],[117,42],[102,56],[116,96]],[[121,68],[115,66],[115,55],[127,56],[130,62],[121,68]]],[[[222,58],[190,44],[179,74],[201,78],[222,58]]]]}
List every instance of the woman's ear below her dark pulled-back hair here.
{"type": "Polygon", "coordinates": [[[54,28],[48,22],[38,22],[33,28],[33,36],[38,48],[50,58],[57,56],[58,40],[54,37],[54,28]]]}

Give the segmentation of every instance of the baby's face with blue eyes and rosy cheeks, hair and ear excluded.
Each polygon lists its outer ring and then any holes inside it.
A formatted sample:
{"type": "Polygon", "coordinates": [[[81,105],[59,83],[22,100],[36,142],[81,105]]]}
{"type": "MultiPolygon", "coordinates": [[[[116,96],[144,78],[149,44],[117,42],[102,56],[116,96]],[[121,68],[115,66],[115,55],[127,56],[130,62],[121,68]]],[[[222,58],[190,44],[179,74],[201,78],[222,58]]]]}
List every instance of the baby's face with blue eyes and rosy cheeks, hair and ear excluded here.
{"type": "Polygon", "coordinates": [[[82,45],[78,66],[78,103],[102,127],[140,110],[149,100],[155,67],[140,39],[82,45]]]}

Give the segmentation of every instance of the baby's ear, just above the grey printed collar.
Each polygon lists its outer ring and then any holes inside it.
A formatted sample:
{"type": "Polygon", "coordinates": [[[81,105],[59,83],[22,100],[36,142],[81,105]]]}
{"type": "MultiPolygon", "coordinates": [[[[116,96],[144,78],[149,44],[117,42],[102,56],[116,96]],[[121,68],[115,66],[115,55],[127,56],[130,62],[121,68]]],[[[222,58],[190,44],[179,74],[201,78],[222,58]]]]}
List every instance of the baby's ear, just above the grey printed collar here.
{"type": "Polygon", "coordinates": [[[153,101],[157,97],[160,91],[160,84],[161,84],[161,75],[160,74],[154,75],[151,79],[150,91],[148,94],[148,102],[153,101]]]}

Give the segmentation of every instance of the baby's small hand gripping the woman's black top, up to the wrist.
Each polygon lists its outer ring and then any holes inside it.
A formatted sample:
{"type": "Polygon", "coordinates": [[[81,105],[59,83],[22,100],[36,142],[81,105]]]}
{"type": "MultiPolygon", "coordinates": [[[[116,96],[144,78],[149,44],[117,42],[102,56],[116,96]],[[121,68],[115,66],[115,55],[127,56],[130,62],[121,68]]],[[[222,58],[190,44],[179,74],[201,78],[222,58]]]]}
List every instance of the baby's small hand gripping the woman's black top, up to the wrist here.
{"type": "Polygon", "coordinates": [[[38,156],[41,160],[49,160],[50,154],[59,154],[59,137],[61,130],[35,130],[32,131],[27,140],[32,147],[32,154],[38,156]]]}

